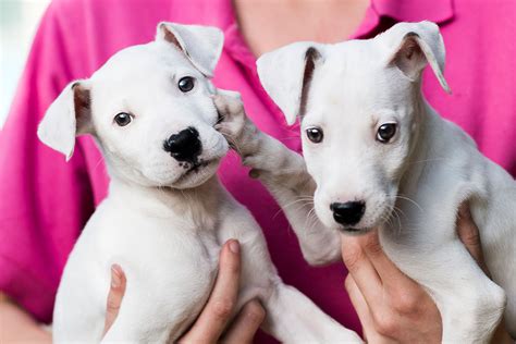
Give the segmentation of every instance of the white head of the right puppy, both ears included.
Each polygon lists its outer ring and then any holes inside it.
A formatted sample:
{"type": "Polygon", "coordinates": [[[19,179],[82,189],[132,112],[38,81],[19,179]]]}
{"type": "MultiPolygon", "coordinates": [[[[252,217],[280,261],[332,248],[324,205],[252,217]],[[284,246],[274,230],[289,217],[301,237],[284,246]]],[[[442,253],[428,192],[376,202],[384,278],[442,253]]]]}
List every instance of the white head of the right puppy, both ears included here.
{"type": "Polygon", "coordinates": [[[417,140],[427,63],[449,90],[442,37],[429,22],[401,23],[370,40],[297,42],[258,60],[286,121],[300,116],[315,208],[325,225],[365,233],[390,218],[417,140]]]}

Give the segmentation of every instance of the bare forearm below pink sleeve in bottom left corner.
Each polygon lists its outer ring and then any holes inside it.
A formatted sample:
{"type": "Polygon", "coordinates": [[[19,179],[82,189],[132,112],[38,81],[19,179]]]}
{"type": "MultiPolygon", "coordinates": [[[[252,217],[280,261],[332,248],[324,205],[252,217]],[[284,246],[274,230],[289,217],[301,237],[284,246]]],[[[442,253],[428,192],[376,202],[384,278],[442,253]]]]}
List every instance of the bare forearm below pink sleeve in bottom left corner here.
{"type": "Polygon", "coordinates": [[[0,293],[0,343],[51,343],[44,330],[27,312],[0,293]]]}

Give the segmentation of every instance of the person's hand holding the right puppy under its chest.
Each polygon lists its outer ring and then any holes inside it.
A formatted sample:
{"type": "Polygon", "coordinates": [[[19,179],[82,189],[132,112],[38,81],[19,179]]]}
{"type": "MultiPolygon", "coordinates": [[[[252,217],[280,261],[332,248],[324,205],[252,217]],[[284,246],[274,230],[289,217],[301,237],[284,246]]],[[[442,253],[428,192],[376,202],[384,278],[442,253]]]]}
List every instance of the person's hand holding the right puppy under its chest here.
{"type": "MultiPolygon", "coordinates": [[[[479,231],[466,204],[459,210],[457,234],[489,275],[479,231]]],[[[441,342],[442,321],[435,304],[419,284],[401,272],[385,256],[377,233],[345,237],[342,249],[349,270],[345,286],[368,342],[441,342]]],[[[503,323],[492,342],[512,343],[503,323]]]]}

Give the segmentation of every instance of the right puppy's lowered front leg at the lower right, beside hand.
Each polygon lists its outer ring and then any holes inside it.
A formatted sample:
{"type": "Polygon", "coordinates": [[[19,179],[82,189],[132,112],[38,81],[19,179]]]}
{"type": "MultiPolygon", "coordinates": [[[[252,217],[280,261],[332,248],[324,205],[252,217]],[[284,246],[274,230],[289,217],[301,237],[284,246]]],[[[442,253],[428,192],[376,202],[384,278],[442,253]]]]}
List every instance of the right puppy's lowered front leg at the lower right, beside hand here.
{"type": "Polygon", "coordinates": [[[407,275],[434,299],[443,322],[443,343],[489,343],[505,307],[505,293],[491,281],[457,239],[419,251],[383,245],[407,275]]]}

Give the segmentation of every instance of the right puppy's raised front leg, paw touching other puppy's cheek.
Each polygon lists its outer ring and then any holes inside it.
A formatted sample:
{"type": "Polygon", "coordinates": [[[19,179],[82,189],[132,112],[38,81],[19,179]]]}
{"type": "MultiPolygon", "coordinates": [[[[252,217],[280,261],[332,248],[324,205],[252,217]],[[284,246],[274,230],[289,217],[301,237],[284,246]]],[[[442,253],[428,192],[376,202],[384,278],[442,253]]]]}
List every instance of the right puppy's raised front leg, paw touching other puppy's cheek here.
{"type": "Polygon", "coordinates": [[[214,103],[223,116],[218,130],[283,209],[305,259],[311,265],[339,260],[340,235],[327,229],[314,212],[316,184],[306,170],[303,157],[260,132],[245,114],[237,94],[220,91],[214,103]]]}

